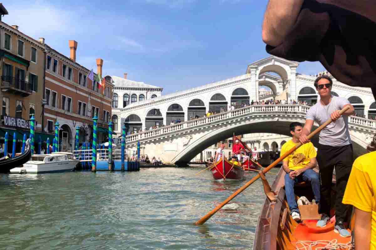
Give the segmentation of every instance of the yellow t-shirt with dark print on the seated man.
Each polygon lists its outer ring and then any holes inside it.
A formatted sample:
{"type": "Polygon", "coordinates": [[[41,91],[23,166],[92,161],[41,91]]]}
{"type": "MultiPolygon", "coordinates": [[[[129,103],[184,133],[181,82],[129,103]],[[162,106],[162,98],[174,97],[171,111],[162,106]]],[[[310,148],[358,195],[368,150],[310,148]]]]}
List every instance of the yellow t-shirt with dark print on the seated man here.
{"type": "MultiPolygon", "coordinates": [[[[281,149],[281,156],[283,156],[287,151],[294,147],[297,143],[293,140],[286,142],[281,149]]],[[[312,142],[308,142],[300,146],[297,150],[287,156],[283,161],[288,161],[288,168],[291,170],[298,170],[305,168],[312,158],[315,158],[317,152],[313,147],[312,142]]]]}

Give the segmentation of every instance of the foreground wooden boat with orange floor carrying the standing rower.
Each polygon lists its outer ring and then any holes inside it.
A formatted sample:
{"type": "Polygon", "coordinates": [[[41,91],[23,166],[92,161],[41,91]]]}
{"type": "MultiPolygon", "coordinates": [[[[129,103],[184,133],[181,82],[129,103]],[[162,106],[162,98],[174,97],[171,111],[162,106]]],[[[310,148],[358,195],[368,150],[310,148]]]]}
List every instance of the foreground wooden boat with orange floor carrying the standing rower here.
{"type": "MultiPolygon", "coordinates": [[[[292,219],[285,196],[285,171],[282,168],[271,187],[268,185],[265,177],[261,176],[261,179],[267,198],[261,208],[261,214],[256,226],[253,250],[334,249],[329,247],[323,248],[329,241],[333,243],[336,242],[335,244],[337,244],[337,246],[338,244],[347,246],[343,249],[352,249],[350,247],[352,244],[351,237],[343,238],[334,232],[334,220],[331,220],[331,222],[323,228],[316,227],[317,219],[320,218],[320,215],[317,213],[317,208],[315,211],[309,211],[305,209],[307,205],[304,205],[305,211],[302,211],[303,208],[299,206],[302,222],[297,223],[292,219]],[[308,219],[303,217],[303,212],[308,219]],[[311,219],[309,217],[311,217],[311,219]],[[312,219],[314,217],[316,218],[312,219]],[[308,244],[312,244],[312,242],[317,243],[318,241],[325,242],[309,248],[308,244]],[[306,248],[304,248],[303,244],[305,244],[306,248]]],[[[335,176],[332,182],[335,183],[335,176]]],[[[299,186],[299,188],[295,188],[295,194],[298,197],[306,196],[309,200],[314,199],[311,184],[299,183],[297,186],[299,186]]],[[[332,192],[334,192],[334,190],[332,190],[332,192]]],[[[308,206],[312,208],[312,205],[308,206]]],[[[317,207],[317,205],[315,206],[317,207]]],[[[332,211],[331,216],[333,213],[334,211],[332,211]]],[[[350,230],[353,228],[354,219],[355,216],[352,216],[349,222],[350,230]]]]}

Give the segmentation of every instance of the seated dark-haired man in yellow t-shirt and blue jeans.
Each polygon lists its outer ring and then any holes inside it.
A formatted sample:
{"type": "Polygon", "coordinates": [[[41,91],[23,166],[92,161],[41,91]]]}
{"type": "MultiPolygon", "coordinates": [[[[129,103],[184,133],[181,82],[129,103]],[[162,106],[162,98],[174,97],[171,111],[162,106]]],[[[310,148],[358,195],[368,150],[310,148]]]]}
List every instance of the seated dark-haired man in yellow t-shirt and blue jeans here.
{"type": "MultiPolygon", "coordinates": [[[[293,139],[286,142],[281,149],[281,155],[299,143],[299,137],[302,134],[303,126],[298,122],[290,124],[290,133],[293,139]]],[[[285,190],[287,203],[291,211],[291,217],[300,221],[300,213],[296,204],[294,194],[294,184],[301,181],[310,181],[312,191],[316,201],[320,201],[320,181],[318,174],[312,168],[316,166],[316,151],[312,142],[308,142],[300,146],[283,160],[283,169],[285,175],[285,190]]]]}

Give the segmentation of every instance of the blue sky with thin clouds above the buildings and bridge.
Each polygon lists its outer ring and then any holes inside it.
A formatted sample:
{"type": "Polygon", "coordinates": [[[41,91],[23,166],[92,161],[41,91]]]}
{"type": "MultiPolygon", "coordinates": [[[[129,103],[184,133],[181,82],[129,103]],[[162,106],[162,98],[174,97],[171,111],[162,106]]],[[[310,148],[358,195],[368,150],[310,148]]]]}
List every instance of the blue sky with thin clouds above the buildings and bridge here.
{"type": "MultiPolygon", "coordinates": [[[[268,57],[261,39],[266,0],[8,1],[2,21],[103,74],[164,88],[186,90],[246,73],[268,57]]],[[[298,73],[324,70],[303,62],[298,73]]]]}

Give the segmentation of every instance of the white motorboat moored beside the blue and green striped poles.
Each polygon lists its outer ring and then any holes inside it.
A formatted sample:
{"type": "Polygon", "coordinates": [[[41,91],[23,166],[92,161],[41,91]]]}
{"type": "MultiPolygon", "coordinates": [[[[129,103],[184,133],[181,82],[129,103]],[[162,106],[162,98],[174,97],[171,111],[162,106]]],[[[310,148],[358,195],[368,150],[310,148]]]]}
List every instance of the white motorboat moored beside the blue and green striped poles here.
{"type": "Polygon", "coordinates": [[[73,154],[58,152],[52,154],[34,154],[20,168],[10,170],[12,174],[43,174],[72,171],[79,160],[73,154]]]}

